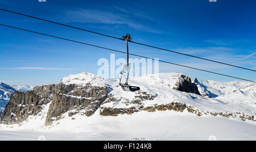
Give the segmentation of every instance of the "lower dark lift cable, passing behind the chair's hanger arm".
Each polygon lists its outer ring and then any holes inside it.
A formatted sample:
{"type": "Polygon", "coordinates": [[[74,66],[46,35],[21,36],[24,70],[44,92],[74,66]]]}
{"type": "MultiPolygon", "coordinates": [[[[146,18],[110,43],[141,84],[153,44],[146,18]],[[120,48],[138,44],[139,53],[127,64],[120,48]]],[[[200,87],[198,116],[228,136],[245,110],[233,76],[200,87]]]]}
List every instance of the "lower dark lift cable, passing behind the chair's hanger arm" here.
{"type": "MultiPolygon", "coordinates": [[[[85,44],[85,45],[89,45],[89,46],[91,46],[91,47],[97,47],[97,48],[101,48],[101,49],[107,49],[107,50],[112,50],[112,51],[114,51],[114,52],[119,52],[119,53],[125,53],[125,54],[127,54],[127,52],[123,52],[123,51],[121,51],[121,50],[115,50],[115,49],[100,47],[100,46],[97,46],[97,45],[88,44],[88,43],[83,43],[83,42],[80,42],[80,41],[75,41],[75,40],[71,40],[71,39],[65,39],[65,38],[63,38],[63,37],[48,35],[48,34],[46,34],[46,33],[40,33],[40,32],[30,31],[30,30],[28,30],[28,29],[23,29],[23,28],[8,26],[8,25],[5,25],[5,24],[0,24],[0,26],[15,28],[15,29],[19,29],[19,30],[22,30],[22,31],[27,31],[27,32],[36,33],[36,34],[39,34],[39,35],[54,37],[54,38],[56,38],[56,39],[72,41],[72,42],[74,42],[74,43],[85,44]]],[[[142,57],[142,58],[148,58],[148,59],[151,59],[151,60],[154,60],[154,61],[164,62],[164,63],[167,63],[167,64],[172,64],[172,65],[176,65],[176,66],[187,67],[187,68],[194,69],[194,70],[205,71],[205,72],[207,72],[207,73],[222,75],[222,76],[225,76],[225,77],[230,77],[230,78],[235,78],[235,79],[240,79],[240,80],[243,80],[243,81],[248,81],[248,82],[254,82],[254,83],[256,83],[255,81],[251,81],[251,80],[249,80],[249,79],[243,79],[243,78],[239,78],[239,77],[233,77],[233,76],[230,76],[230,75],[220,74],[220,73],[216,73],[216,72],[208,71],[208,70],[203,70],[203,69],[198,69],[198,68],[191,67],[191,66],[185,66],[185,65],[180,65],[180,64],[174,64],[174,63],[172,63],[172,62],[163,61],[163,60],[158,60],[158,59],[151,58],[151,57],[145,57],[145,56],[141,56],[141,55],[138,55],[138,54],[133,54],[133,53],[129,53],[129,54],[130,54],[131,56],[137,56],[137,57],[142,57]]]]}

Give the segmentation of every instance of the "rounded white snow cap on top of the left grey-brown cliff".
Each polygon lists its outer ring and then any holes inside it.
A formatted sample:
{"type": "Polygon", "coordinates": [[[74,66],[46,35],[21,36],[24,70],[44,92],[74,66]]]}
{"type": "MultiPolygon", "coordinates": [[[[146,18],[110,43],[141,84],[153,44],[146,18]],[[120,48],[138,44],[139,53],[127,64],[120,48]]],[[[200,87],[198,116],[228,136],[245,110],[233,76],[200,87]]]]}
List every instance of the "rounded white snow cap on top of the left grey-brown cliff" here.
{"type": "Polygon", "coordinates": [[[106,86],[106,80],[98,75],[91,73],[80,73],[75,75],[68,75],[61,80],[64,85],[79,85],[84,86],[90,83],[92,86],[106,86]]]}

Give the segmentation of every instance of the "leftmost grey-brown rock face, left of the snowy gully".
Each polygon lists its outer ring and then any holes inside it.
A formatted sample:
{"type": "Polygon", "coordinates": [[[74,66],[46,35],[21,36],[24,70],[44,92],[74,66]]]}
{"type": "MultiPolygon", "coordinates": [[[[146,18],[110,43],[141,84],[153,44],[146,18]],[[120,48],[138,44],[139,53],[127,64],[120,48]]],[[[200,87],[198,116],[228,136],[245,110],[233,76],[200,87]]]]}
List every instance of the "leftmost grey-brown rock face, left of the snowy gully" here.
{"type": "Polygon", "coordinates": [[[28,92],[15,91],[2,113],[1,121],[5,124],[22,123],[28,116],[37,115],[42,111],[42,105],[51,102],[54,86],[38,86],[28,92]]]}

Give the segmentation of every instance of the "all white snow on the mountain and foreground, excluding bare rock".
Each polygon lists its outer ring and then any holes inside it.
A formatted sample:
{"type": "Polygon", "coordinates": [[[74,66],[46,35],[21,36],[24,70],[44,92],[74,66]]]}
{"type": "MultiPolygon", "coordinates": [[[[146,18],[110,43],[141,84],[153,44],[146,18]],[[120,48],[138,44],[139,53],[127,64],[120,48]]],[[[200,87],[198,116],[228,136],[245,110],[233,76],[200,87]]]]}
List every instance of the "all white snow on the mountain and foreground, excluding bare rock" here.
{"type": "MultiPolygon", "coordinates": [[[[0,140],[37,140],[40,135],[46,140],[256,140],[256,123],[242,121],[237,112],[255,115],[256,96],[253,83],[202,81],[197,86],[201,95],[174,90],[179,73],[143,75],[130,79],[133,86],[141,87],[144,94],[154,98],[143,100],[144,107],[170,102],[184,103],[203,112],[233,113],[234,117],[201,115],[176,111],[139,111],[132,115],[101,116],[100,108],[90,117],[84,115],[68,116],[45,126],[48,103],[43,111],[30,116],[22,124],[0,125],[0,140]]],[[[118,99],[108,101],[101,107],[138,107],[131,101],[137,99],[137,92],[125,92],[118,81],[104,79],[97,75],[82,73],[69,75],[61,80],[66,85],[109,86],[109,95],[118,99]]],[[[255,118],[255,117],[254,117],[255,118]]],[[[40,137],[41,138],[41,137],[40,137]]]]}

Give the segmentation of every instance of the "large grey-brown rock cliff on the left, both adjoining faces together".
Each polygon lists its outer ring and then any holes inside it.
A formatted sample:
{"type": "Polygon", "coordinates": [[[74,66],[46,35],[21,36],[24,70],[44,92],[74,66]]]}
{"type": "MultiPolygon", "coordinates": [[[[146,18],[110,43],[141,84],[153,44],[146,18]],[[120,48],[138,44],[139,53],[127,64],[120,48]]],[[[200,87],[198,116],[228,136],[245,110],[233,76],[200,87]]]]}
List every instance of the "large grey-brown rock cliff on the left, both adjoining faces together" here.
{"type": "Polygon", "coordinates": [[[65,112],[69,116],[80,113],[91,116],[107,98],[109,87],[96,87],[90,84],[78,85],[46,85],[35,87],[28,92],[15,91],[1,116],[2,123],[22,123],[28,116],[38,115],[42,105],[49,102],[46,125],[61,119],[65,112]]]}

